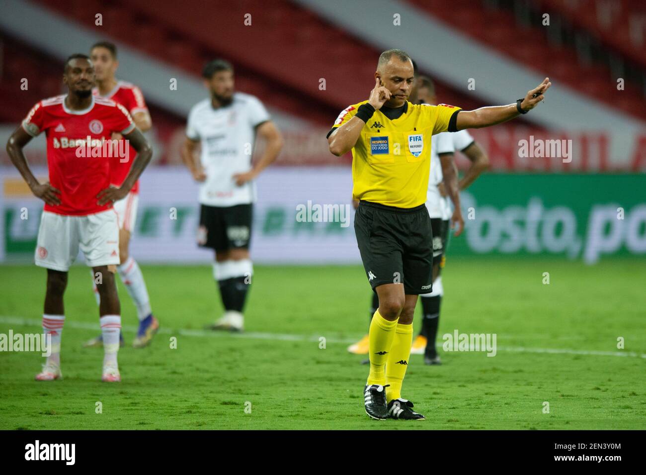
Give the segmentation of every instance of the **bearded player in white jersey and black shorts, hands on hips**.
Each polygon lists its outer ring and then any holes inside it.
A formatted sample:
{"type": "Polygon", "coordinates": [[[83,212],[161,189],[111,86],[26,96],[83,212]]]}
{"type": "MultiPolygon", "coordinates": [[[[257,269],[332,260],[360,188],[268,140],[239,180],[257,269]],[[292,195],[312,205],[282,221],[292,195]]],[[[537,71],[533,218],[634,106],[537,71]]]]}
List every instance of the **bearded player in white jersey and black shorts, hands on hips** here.
{"type": "Polygon", "coordinates": [[[234,92],[230,63],[214,59],[205,65],[202,76],[210,97],[189,112],[182,160],[201,183],[198,244],[215,251],[213,276],[225,309],[209,328],[242,331],[242,311],[253,274],[249,242],[254,180],[276,160],[283,142],[264,105],[255,96],[234,92]],[[256,134],[266,147],[252,164],[256,134]]]}

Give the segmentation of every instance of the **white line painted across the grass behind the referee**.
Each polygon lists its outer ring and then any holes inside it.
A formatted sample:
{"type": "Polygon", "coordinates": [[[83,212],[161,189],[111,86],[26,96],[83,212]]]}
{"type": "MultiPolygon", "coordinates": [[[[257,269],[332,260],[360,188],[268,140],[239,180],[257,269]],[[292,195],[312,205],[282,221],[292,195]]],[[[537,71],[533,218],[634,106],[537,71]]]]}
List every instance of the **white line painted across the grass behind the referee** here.
{"type": "MultiPolygon", "coordinates": [[[[25,319],[23,317],[8,317],[0,315],[0,323],[8,323],[20,326],[38,326],[42,325],[41,320],[25,319]]],[[[74,328],[77,330],[100,330],[99,322],[65,322],[65,328],[74,328]]],[[[137,327],[132,325],[125,325],[121,330],[129,333],[136,333],[137,327]]],[[[229,333],[229,332],[213,332],[211,330],[189,330],[182,329],[170,330],[169,328],[161,327],[158,333],[165,333],[167,335],[184,335],[188,337],[229,337],[229,338],[244,338],[244,339],[257,339],[257,340],[274,340],[274,341],[318,341],[320,336],[307,337],[306,335],[293,335],[289,333],[261,333],[261,332],[244,332],[244,333],[229,333]]],[[[323,335],[321,335],[323,336],[323,335]]],[[[326,337],[326,342],[348,344],[355,343],[357,339],[335,339],[326,337]]],[[[646,354],[636,352],[604,352],[599,350],[570,350],[568,348],[526,348],[524,346],[497,346],[496,351],[512,352],[512,353],[543,353],[543,354],[556,354],[556,355],[591,355],[591,356],[621,356],[633,358],[645,358],[646,354]]]]}

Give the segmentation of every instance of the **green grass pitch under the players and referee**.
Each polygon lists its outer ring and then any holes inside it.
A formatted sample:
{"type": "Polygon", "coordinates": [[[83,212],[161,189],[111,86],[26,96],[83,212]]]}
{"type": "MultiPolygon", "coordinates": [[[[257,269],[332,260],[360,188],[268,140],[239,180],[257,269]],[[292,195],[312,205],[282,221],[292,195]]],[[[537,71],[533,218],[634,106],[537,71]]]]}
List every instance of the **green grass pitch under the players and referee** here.
{"type": "MultiPolygon", "coordinates": [[[[441,350],[443,366],[413,355],[402,396],[419,422],[364,413],[368,368],[346,351],[368,326],[360,266],[256,266],[237,336],[202,330],[222,311],[209,266],[141,267],[161,330],[148,348],[130,346],[136,313],[120,283],[123,382],[101,383],[103,350],[81,347],[99,331],[98,310],[87,268],[75,266],[64,379],[36,382],[39,354],[1,352],[0,429],[646,428],[643,261],[450,258],[440,337],[496,333],[498,350],[441,350]]],[[[40,331],[44,284],[35,266],[0,268],[0,333],[40,331]]]]}

